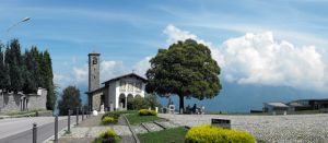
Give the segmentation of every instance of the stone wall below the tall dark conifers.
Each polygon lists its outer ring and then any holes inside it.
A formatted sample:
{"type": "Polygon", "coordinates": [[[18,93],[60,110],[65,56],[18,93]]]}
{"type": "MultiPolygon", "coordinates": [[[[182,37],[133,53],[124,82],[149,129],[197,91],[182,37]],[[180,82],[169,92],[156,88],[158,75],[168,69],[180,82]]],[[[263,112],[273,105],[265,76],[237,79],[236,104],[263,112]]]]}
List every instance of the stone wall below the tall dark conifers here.
{"type": "Polygon", "coordinates": [[[46,109],[46,102],[47,91],[44,88],[39,88],[37,94],[27,95],[0,92],[0,112],[46,109]]]}

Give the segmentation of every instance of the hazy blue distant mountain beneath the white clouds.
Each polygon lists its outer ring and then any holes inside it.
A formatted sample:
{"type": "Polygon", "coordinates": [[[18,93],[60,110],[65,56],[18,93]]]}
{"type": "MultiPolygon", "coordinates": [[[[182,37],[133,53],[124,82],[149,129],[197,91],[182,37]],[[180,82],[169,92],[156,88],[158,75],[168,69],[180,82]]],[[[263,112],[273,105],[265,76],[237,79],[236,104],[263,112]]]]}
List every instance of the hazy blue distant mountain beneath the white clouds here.
{"type": "MultiPolygon", "coordinates": [[[[290,102],[301,98],[328,98],[324,93],[296,90],[288,86],[265,86],[265,85],[245,85],[237,83],[222,82],[223,91],[213,99],[186,99],[185,106],[204,105],[206,110],[229,111],[229,112],[248,112],[250,109],[262,108],[265,102],[290,102]]],[[[83,104],[87,103],[86,85],[79,85],[81,99],[83,104]]],[[[168,98],[159,98],[162,105],[167,105],[168,98]]],[[[178,107],[178,98],[172,98],[178,107]]]]}

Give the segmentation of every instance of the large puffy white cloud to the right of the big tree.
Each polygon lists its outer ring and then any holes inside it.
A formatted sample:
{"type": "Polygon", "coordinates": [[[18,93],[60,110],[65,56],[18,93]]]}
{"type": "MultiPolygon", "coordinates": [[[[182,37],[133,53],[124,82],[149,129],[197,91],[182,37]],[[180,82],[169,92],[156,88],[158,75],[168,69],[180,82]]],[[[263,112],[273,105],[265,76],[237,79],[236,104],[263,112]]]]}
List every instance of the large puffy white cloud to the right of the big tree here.
{"type": "Polygon", "coordinates": [[[274,40],[271,32],[263,32],[227,39],[218,48],[174,25],[168,25],[164,33],[171,43],[194,38],[207,45],[229,82],[326,90],[323,53],[314,46],[295,47],[285,40],[274,40]]]}

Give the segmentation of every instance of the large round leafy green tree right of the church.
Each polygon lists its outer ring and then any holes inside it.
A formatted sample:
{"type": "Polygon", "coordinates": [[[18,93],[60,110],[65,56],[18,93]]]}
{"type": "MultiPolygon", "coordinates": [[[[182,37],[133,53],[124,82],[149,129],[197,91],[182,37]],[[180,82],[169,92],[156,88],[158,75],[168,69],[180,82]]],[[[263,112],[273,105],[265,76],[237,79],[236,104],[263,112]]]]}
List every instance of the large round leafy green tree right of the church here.
{"type": "Polygon", "coordinates": [[[185,97],[212,98],[222,88],[220,67],[212,59],[211,50],[192,39],[160,49],[150,62],[147,92],[160,96],[177,95],[180,109],[184,109],[185,97]]]}

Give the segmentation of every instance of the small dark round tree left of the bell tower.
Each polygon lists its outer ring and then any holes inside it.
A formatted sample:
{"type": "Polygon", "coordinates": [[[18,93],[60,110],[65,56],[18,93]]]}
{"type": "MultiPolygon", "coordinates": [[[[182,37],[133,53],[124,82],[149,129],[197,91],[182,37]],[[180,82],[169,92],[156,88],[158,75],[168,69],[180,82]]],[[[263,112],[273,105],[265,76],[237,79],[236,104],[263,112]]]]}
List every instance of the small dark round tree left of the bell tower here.
{"type": "Polygon", "coordinates": [[[75,86],[68,86],[62,91],[61,100],[58,103],[59,115],[68,115],[68,110],[81,106],[80,90],[75,86]]]}

